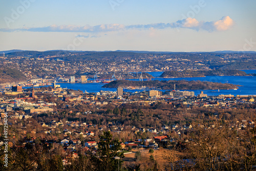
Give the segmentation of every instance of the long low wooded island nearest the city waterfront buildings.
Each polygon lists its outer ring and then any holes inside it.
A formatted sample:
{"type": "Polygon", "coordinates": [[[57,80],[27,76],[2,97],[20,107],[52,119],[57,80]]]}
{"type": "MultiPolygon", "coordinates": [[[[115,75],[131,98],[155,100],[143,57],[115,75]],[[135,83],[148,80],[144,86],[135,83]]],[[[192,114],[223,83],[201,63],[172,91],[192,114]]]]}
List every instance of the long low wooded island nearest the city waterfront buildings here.
{"type": "Polygon", "coordinates": [[[162,90],[174,90],[174,84],[177,90],[217,90],[217,89],[238,89],[237,85],[229,83],[218,83],[208,81],[186,81],[186,80],[168,80],[168,81],[131,81],[116,80],[105,84],[103,88],[154,88],[162,90]]]}

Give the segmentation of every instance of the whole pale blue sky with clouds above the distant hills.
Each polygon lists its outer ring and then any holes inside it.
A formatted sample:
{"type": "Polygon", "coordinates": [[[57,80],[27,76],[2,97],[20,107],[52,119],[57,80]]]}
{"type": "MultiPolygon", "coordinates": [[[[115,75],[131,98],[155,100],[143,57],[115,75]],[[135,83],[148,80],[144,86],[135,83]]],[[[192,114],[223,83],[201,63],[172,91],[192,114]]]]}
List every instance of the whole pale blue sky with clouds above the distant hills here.
{"type": "Polygon", "coordinates": [[[256,51],[254,0],[0,3],[0,51],[256,51]]]}

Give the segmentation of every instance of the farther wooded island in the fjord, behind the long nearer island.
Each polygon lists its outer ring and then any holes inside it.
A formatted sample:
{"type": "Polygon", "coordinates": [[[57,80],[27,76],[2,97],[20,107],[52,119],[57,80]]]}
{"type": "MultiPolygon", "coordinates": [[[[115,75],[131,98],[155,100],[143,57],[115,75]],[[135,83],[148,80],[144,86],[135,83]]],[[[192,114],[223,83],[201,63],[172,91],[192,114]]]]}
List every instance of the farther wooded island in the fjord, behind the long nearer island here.
{"type": "Polygon", "coordinates": [[[251,74],[246,74],[244,71],[239,70],[210,70],[210,71],[165,71],[160,75],[160,77],[203,77],[203,76],[250,76],[251,74]]]}

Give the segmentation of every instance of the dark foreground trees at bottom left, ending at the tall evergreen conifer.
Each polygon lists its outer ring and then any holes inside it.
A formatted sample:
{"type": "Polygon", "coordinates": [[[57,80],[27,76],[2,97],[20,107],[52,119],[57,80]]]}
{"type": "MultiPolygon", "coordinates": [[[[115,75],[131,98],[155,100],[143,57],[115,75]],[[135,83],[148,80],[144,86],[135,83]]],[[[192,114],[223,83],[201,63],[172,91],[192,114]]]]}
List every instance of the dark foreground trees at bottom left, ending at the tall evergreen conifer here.
{"type": "Polygon", "coordinates": [[[117,170],[122,160],[118,162],[114,157],[124,157],[120,144],[110,132],[104,132],[99,135],[97,150],[84,150],[80,145],[73,153],[69,149],[64,151],[61,144],[44,143],[37,138],[34,142],[12,145],[7,160],[3,160],[7,153],[1,148],[0,170],[117,170]]]}

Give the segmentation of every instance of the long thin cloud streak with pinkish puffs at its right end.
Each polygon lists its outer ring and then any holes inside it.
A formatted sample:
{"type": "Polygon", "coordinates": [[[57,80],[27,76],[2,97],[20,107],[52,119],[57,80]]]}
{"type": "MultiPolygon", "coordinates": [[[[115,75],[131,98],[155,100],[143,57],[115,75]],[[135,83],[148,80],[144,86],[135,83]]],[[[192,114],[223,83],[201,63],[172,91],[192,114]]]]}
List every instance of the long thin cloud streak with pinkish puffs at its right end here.
{"type": "Polygon", "coordinates": [[[17,31],[29,31],[29,32],[110,32],[110,31],[125,31],[128,29],[166,29],[166,28],[187,28],[193,30],[206,30],[212,31],[225,31],[229,30],[233,26],[234,22],[229,16],[224,16],[221,19],[214,22],[198,21],[195,18],[186,18],[178,20],[175,23],[157,23],[148,25],[120,25],[120,24],[104,24],[98,26],[75,26],[75,25],[51,25],[48,27],[29,28],[23,27],[19,29],[0,29],[2,32],[17,32],[17,31]]]}

